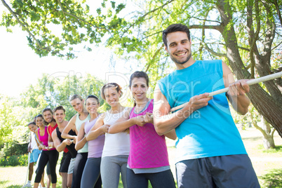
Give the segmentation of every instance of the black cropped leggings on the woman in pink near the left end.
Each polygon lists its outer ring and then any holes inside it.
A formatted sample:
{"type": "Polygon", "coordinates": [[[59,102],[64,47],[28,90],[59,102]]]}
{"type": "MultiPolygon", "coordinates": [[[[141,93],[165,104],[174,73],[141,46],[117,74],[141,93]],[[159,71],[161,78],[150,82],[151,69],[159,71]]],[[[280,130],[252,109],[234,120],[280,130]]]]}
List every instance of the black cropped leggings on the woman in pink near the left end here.
{"type": "Polygon", "coordinates": [[[40,182],[44,168],[49,161],[50,171],[51,171],[51,182],[57,183],[56,165],[58,158],[59,158],[59,152],[57,152],[57,150],[42,151],[38,163],[38,168],[37,168],[38,171],[36,173],[34,182],[36,183],[40,182]]]}

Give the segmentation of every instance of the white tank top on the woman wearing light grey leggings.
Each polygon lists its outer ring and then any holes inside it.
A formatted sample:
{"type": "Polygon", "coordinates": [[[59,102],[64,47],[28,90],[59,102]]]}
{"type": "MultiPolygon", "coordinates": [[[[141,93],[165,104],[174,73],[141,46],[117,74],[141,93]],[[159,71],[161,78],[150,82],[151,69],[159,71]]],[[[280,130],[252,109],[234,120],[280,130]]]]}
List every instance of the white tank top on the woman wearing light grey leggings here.
{"type": "MultiPolygon", "coordinates": [[[[110,114],[108,111],[105,112],[104,123],[108,125],[114,124],[123,114],[128,110],[126,107],[123,112],[118,114],[110,114]]],[[[102,152],[104,156],[117,156],[117,155],[129,155],[129,134],[128,133],[116,133],[116,134],[105,134],[105,145],[102,152]]]]}

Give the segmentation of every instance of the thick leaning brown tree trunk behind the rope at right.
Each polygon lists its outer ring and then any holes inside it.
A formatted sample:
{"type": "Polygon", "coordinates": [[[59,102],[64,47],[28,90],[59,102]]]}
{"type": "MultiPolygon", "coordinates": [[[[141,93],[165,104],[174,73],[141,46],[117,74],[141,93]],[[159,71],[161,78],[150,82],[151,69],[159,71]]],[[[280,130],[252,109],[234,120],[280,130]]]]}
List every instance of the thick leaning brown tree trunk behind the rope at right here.
{"type": "MultiPolygon", "coordinates": [[[[217,0],[217,10],[220,12],[222,19],[222,27],[224,27],[222,36],[227,47],[227,59],[231,69],[236,74],[237,79],[249,79],[250,73],[243,65],[240,57],[239,48],[232,24],[231,6],[228,1],[217,0]]],[[[250,86],[250,93],[248,93],[250,101],[253,103],[257,111],[264,116],[264,119],[277,130],[282,137],[282,105],[280,102],[274,100],[260,85],[255,84],[250,86]]]]}

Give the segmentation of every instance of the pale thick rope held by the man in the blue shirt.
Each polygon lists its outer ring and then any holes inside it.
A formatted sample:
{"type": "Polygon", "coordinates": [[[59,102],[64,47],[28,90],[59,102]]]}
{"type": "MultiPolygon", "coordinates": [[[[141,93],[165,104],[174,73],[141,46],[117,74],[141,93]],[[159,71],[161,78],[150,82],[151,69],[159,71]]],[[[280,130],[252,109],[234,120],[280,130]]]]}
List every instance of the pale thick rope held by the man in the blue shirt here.
{"type": "MultiPolygon", "coordinates": [[[[260,82],[263,82],[263,81],[269,81],[269,80],[281,78],[281,76],[282,76],[282,72],[277,72],[275,74],[270,74],[268,76],[262,76],[262,77],[260,77],[258,79],[249,80],[249,81],[247,81],[247,83],[248,83],[249,86],[251,86],[251,85],[253,85],[255,83],[260,83],[260,82]]],[[[213,95],[218,95],[220,93],[225,93],[227,91],[229,91],[229,88],[223,88],[223,89],[220,89],[220,90],[215,90],[215,91],[213,91],[211,93],[208,93],[208,97],[211,97],[213,95]]],[[[170,112],[173,112],[173,111],[175,111],[177,109],[181,109],[182,107],[184,107],[187,104],[188,104],[188,102],[186,102],[186,103],[184,103],[182,105],[179,105],[178,107],[173,107],[172,109],[170,109],[170,112]]]]}

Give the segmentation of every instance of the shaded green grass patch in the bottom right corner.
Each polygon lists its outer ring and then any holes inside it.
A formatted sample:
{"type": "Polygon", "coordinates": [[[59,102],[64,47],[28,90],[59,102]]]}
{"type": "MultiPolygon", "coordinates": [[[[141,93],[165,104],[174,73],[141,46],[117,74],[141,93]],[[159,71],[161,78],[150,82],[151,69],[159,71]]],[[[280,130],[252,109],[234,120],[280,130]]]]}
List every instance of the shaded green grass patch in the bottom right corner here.
{"type": "Polygon", "coordinates": [[[282,187],[282,169],[272,169],[269,173],[260,176],[262,187],[282,187]]]}

